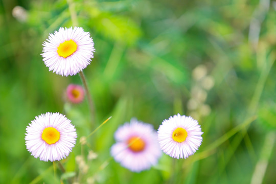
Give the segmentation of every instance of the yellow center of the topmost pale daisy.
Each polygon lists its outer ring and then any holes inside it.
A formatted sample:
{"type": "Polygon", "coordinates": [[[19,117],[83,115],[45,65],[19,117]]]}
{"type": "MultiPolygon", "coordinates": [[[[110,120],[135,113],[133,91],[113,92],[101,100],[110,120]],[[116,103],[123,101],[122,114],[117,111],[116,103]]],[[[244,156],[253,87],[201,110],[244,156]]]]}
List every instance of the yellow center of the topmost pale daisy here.
{"type": "Polygon", "coordinates": [[[71,39],[60,43],[57,52],[59,56],[66,58],[74,54],[74,52],[77,51],[77,48],[77,43],[71,39]]]}

